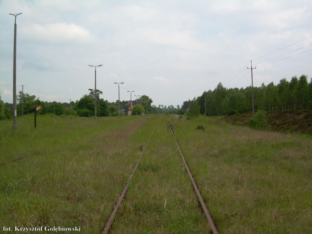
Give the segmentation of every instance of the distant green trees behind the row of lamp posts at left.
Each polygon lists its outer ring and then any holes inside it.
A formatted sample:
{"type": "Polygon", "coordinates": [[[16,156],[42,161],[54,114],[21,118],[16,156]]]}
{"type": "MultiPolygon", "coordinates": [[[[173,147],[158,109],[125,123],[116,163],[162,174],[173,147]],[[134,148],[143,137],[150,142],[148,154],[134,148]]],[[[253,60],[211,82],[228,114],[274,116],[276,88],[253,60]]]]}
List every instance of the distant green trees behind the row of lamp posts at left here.
{"type": "MultiPolygon", "coordinates": [[[[97,116],[118,116],[119,101],[108,102],[100,95],[102,91],[89,89],[89,94],[84,95],[80,100],[70,101],[69,103],[61,102],[44,102],[35,95],[19,92],[17,96],[17,115],[22,116],[32,112],[37,106],[42,106],[43,109],[38,111],[39,114],[55,114],[55,115],[73,115],[80,117],[92,117],[95,114],[95,98],[97,101],[97,116]],[[96,93],[96,95],[95,95],[96,93]],[[96,97],[95,97],[96,96],[96,97]]],[[[174,111],[175,108],[171,105],[168,108],[165,106],[157,108],[152,104],[152,99],[147,95],[142,95],[139,99],[140,105],[133,106],[133,115],[150,114],[150,113],[166,113],[174,111]]],[[[120,101],[120,109],[127,114],[128,101],[120,101]]],[[[13,116],[13,104],[4,103],[0,97],[0,119],[10,119],[13,116]]]]}

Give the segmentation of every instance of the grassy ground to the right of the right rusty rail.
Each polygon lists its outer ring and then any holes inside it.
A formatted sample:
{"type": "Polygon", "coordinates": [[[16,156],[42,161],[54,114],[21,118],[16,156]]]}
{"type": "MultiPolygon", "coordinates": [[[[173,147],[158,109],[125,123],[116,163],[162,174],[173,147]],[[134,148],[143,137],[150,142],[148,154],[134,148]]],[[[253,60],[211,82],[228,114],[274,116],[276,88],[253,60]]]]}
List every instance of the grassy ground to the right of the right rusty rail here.
{"type": "Polygon", "coordinates": [[[312,233],[310,138],[219,118],[172,123],[220,233],[312,233]]]}

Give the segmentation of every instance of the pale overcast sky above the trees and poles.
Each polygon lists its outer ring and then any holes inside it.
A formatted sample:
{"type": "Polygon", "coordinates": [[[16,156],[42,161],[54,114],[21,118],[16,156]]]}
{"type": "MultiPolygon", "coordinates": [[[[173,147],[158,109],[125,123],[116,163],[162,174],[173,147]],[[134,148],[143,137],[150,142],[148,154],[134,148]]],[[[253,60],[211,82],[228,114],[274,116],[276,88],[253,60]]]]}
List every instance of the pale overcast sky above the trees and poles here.
{"type": "Polygon", "coordinates": [[[0,96],[69,102],[95,88],[108,102],[147,95],[152,105],[225,88],[312,76],[312,2],[0,0],[0,96]],[[277,61],[279,60],[279,61],[277,61]]]}

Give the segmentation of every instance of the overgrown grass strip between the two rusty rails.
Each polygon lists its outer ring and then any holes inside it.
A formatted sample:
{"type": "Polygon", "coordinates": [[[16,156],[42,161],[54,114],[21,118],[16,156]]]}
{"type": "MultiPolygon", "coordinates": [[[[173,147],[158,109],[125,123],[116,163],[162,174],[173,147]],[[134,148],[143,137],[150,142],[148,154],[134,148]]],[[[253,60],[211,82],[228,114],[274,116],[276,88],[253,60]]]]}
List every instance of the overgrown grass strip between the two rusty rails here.
{"type": "Polygon", "coordinates": [[[210,233],[167,122],[157,126],[110,233],[210,233]]]}

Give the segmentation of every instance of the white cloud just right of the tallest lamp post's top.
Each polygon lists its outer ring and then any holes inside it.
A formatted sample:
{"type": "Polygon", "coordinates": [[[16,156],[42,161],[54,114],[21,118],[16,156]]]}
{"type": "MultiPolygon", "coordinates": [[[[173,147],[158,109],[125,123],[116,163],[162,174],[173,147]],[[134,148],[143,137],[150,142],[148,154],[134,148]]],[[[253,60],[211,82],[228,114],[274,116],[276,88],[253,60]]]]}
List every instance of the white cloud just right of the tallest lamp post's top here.
{"type": "Polygon", "coordinates": [[[88,30],[72,23],[32,24],[22,28],[21,34],[31,40],[59,44],[88,44],[93,41],[88,30]]]}

